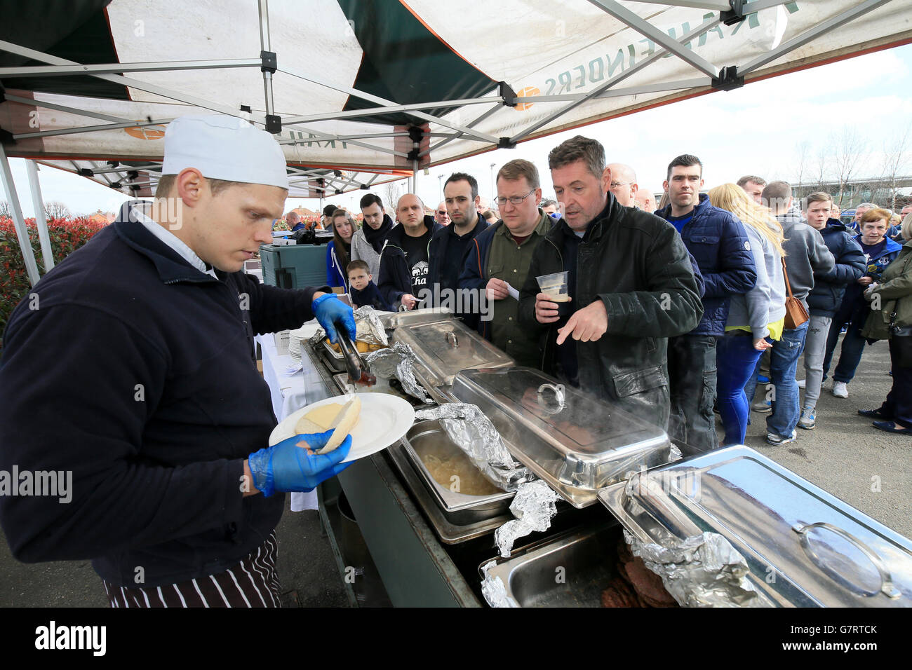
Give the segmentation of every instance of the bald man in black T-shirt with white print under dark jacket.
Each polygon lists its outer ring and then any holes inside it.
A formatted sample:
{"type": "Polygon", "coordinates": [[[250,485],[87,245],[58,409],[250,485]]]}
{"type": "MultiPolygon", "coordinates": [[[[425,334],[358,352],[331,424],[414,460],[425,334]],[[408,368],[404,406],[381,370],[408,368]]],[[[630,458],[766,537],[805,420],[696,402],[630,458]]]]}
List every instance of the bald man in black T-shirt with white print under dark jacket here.
{"type": "Polygon", "coordinates": [[[404,304],[415,309],[427,297],[428,260],[431,236],[443,226],[424,213],[424,204],[413,194],[406,193],[396,205],[399,226],[389,232],[380,252],[380,276],[377,283],[383,299],[393,308],[404,304]]]}

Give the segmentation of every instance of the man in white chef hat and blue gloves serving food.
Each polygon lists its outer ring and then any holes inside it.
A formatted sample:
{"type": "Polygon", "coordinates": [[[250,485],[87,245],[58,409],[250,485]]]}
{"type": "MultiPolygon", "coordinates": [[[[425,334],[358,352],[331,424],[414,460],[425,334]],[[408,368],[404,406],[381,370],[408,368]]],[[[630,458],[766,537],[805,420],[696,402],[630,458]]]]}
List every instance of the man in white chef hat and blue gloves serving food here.
{"type": "Polygon", "coordinates": [[[175,119],[157,206],[125,207],[16,307],[0,359],[0,470],[60,475],[55,495],[0,496],[17,559],[92,559],[115,607],[278,605],[281,492],[336,475],[351,438],[328,454],[314,452],[329,432],[268,445],[275,415],[254,334],[316,316],[333,342],[338,327],[355,336],[327,287],[240,272],[272,241],[287,193],[264,130],[175,119]]]}

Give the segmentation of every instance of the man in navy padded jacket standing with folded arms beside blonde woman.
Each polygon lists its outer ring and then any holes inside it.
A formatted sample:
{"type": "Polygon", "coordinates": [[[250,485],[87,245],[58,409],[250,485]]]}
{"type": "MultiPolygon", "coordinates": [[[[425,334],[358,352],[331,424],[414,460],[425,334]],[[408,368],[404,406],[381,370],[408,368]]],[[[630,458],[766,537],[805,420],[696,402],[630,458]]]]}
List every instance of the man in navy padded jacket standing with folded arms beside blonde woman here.
{"type": "Polygon", "coordinates": [[[686,335],[668,340],[671,417],[668,434],[684,454],[719,448],[716,417],[716,338],[725,335],[732,295],[746,294],[757,283],[757,267],[744,225],[730,212],[700,195],[703,164],[684,154],[668,164],[663,184],[668,207],[656,214],[680,233],[697,259],[706,284],[703,318],[686,335]]]}

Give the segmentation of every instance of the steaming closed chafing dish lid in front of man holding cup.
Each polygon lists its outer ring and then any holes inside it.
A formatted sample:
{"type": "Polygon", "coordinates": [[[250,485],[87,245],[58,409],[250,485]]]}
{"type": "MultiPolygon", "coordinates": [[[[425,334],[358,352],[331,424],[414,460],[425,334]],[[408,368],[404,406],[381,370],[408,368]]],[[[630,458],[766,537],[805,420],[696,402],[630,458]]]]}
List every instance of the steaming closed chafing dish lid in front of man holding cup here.
{"type": "Polygon", "coordinates": [[[575,507],[668,462],[665,431],[530,367],[463,371],[451,397],[480,407],[513,456],[575,507]]]}

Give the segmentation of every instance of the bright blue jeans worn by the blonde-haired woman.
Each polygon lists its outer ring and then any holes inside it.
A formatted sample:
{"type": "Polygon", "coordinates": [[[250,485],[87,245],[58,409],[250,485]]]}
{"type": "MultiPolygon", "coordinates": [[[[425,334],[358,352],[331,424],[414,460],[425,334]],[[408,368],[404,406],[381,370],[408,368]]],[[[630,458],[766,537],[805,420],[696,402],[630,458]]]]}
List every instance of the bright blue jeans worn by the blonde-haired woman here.
{"type": "MultiPolygon", "coordinates": [[[[724,445],[744,444],[747,420],[751,414],[751,403],[744,393],[757,367],[762,351],[753,348],[753,336],[725,335],[716,345],[716,367],[718,369],[719,414],[725,429],[724,445]]],[[[757,377],[754,375],[754,387],[757,377]]]]}

